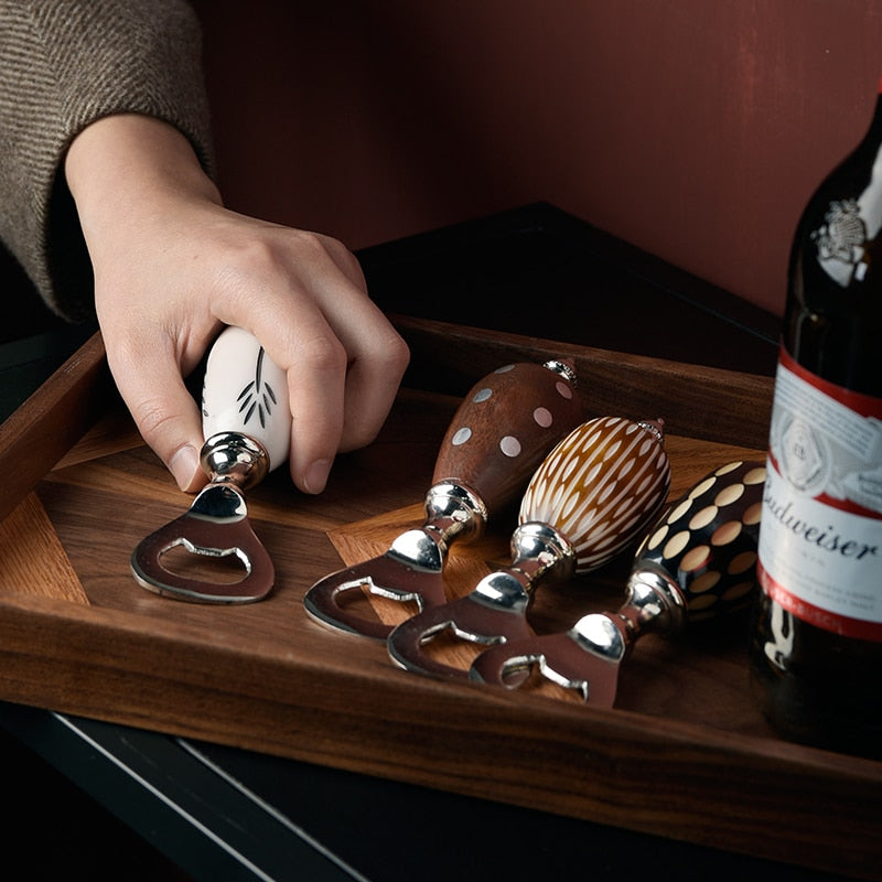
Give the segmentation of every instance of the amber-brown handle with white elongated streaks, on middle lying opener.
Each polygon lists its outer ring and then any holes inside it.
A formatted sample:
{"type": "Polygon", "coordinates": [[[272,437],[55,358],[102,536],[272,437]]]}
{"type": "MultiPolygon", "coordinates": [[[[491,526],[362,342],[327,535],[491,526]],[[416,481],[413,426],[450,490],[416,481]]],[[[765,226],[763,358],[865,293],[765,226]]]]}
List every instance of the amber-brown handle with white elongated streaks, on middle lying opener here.
{"type": "Polygon", "coordinates": [[[660,420],[598,417],[545,459],[521,499],[520,524],[548,524],[572,545],[576,572],[595,570],[642,538],[667,497],[660,420]]]}

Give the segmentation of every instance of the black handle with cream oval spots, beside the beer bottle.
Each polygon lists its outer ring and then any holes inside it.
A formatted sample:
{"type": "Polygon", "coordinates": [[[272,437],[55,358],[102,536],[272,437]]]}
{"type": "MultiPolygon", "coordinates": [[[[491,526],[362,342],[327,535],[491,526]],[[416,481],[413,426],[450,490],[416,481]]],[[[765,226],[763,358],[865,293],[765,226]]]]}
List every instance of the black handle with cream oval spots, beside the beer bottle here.
{"type": "Polygon", "coordinates": [[[658,518],[637,548],[628,585],[632,594],[645,587],[670,599],[673,621],[655,630],[676,632],[750,604],[764,485],[764,462],[730,462],[658,518]]]}

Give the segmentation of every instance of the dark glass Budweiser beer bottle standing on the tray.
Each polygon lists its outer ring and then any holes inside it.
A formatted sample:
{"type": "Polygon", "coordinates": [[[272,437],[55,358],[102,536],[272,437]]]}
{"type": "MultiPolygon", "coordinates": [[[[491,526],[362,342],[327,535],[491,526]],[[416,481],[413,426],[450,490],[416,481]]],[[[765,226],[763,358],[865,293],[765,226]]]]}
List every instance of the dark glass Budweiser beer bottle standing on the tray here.
{"type": "Polygon", "coordinates": [[[882,80],[797,225],[750,646],[789,740],[882,756],[882,80]]]}

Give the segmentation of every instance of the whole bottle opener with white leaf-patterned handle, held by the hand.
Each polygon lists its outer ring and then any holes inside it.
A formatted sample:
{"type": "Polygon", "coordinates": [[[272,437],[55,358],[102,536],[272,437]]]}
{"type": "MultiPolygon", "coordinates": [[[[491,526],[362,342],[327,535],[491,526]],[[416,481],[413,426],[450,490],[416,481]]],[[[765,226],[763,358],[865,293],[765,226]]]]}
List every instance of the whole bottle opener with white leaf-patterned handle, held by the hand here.
{"type": "Polygon", "coordinates": [[[136,547],[131,571],[142,588],[179,600],[262,600],[272,589],[275,567],[248,523],[244,491],[288,459],[291,411],[284,372],[240,327],[225,329],[208,354],[202,417],[201,462],[208,484],[190,510],[136,547]],[[196,558],[235,557],[245,576],[222,583],[169,569],[163,557],[179,547],[196,558]]]}

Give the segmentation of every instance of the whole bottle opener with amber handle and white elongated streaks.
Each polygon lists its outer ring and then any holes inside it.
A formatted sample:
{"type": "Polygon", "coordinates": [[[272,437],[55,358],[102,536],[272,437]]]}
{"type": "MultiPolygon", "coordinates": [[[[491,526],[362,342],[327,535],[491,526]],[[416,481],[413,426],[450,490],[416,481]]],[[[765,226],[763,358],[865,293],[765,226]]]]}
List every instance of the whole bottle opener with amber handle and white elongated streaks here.
{"type": "Polygon", "coordinates": [[[570,432],[546,458],[521,499],[512,562],[463,598],[402,622],[387,641],[407,670],[467,678],[433,658],[427,644],[452,632],[483,646],[531,634],[527,610],[542,582],[602,567],[652,524],[670,485],[660,421],[599,417],[570,432]]]}

